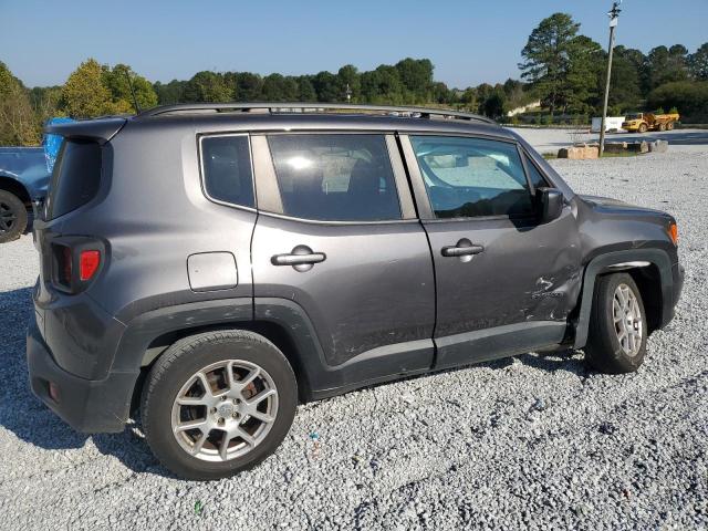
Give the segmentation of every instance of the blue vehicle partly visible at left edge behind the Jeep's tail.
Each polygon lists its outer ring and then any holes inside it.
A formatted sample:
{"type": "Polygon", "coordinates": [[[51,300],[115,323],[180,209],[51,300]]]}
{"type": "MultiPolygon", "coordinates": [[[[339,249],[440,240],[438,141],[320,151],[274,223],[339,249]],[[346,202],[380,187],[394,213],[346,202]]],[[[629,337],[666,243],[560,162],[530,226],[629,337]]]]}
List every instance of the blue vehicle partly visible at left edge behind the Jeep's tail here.
{"type": "Polygon", "coordinates": [[[42,147],[0,147],[0,243],[24,233],[32,202],[44,199],[49,180],[42,147]]]}

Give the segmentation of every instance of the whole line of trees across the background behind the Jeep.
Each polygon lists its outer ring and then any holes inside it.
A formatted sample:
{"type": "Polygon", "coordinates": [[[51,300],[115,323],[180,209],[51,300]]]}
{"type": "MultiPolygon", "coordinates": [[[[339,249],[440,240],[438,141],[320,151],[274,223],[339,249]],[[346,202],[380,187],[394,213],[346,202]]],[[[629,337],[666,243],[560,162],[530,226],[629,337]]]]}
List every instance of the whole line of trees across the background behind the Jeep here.
{"type": "MultiPolygon", "coordinates": [[[[428,59],[406,58],[360,71],[260,75],[252,72],[197,72],[189,80],[152,83],[129,65],[81,63],[61,86],[28,88],[0,62],[0,145],[34,145],[52,116],[75,118],[134,112],[131,84],[140,108],[195,102],[346,102],[439,105],[500,118],[516,107],[541,101],[553,116],[587,122],[601,112],[606,51],[580,32],[570,14],[554,13],[531,32],[521,51],[521,80],[466,88],[434,79],[428,59]]],[[[708,43],[641,50],[615,48],[610,114],[677,107],[693,122],[708,122],[708,43]]],[[[517,119],[517,118],[513,118],[517,119]]]]}

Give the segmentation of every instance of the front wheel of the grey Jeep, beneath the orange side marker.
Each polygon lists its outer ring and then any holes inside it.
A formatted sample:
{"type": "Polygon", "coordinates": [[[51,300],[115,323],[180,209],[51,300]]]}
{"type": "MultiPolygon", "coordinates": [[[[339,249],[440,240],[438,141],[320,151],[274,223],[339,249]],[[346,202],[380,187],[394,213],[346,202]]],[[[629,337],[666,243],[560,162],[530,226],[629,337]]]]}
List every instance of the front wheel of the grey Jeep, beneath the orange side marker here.
{"type": "Polygon", "coordinates": [[[597,278],[585,360],[608,374],[635,372],[646,354],[646,314],[639,290],[627,273],[597,278]]]}

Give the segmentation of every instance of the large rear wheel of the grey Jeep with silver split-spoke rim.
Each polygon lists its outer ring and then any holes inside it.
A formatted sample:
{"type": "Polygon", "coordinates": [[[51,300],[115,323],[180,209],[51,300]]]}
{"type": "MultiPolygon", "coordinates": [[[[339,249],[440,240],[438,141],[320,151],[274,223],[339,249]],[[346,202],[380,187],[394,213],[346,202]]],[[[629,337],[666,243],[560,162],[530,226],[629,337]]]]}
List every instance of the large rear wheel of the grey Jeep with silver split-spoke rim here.
{"type": "Polygon", "coordinates": [[[253,332],[229,330],[178,341],[143,387],[147,442],[176,475],[197,480],[254,467],[283,440],[298,385],[285,356],[253,332]]]}

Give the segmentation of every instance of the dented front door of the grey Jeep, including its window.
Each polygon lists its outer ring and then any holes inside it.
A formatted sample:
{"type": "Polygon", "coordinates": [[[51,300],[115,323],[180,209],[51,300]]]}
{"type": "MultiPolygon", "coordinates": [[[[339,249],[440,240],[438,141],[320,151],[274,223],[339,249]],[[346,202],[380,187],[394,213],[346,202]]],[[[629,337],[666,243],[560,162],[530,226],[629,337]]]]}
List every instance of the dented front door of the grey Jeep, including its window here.
{"type": "Polygon", "coordinates": [[[435,260],[437,366],[560,343],[580,289],[571,208],[538,221],[534,188],[549,184],[514,142],[402,144],[435,260]]]}

